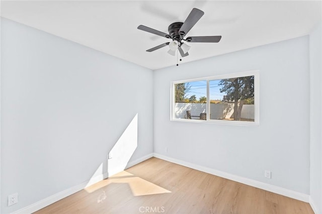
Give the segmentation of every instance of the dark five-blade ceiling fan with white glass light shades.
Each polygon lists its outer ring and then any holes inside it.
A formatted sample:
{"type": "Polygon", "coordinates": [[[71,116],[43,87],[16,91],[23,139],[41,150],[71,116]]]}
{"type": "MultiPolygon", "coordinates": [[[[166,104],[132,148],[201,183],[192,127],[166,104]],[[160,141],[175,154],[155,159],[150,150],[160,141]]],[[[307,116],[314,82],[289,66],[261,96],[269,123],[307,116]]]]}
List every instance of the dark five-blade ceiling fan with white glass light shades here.
{"type": "Polygon", "coordinates": [[[140,25],[137,27],[137,29],[146,31],[158,36],[166,37],[168,39],[172,39],[172,42],[166,42],[164,44],[158,45],[154,48],[146,50],[147,52],[155,51],[159,48],[163,48],[166,46],[169,46],[170,50],[168,51],[169,54],[175,56],[176,51],[178,50],[180,52],[180,55],[182,57],[188,56],[188,50],[190,49],[190,46],[184,43],[186,42],[219,42],[221,39],[221,36],[194,36],[194,37],[187,37],[185,36],[188,34],[188,32],[191,30],[191,28],[199,21],[199,19],[204,15],[204,12],[199,9],[192,9],[189,16],[187,17],[186,21],[184,23],[182,22],[175,22],[169,25],[168,31],[169,34],[166,34],[161,31],[154,30],[152,28],[140,25]]]}

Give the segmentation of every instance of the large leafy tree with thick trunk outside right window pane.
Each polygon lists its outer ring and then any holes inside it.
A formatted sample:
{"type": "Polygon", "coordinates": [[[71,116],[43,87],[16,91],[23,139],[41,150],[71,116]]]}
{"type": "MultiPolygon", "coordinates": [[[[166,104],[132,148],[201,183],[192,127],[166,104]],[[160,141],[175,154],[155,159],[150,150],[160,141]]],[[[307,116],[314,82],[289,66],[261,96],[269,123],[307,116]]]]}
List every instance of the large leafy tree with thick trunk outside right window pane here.
{"type": "Polygon", "coordinates": [[[241,109],[245,100],[254,99],[254,76],[221,79],[218,85],[222,85],[220,92],[226,93],[224,101],[234,102],[233,120],[240,121],[241,109]]]}

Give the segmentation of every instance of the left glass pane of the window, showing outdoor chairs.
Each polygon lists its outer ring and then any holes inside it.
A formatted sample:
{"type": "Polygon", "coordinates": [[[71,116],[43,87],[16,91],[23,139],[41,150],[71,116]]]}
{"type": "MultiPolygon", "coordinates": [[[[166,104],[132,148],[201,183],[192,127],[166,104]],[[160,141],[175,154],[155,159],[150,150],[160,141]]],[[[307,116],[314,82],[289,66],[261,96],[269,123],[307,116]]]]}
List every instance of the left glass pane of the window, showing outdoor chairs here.
{"type": "Polygon", "coordinates": [[[207,81],[192,81],[174,84],[176,119],[206,120],[207,81]]]}

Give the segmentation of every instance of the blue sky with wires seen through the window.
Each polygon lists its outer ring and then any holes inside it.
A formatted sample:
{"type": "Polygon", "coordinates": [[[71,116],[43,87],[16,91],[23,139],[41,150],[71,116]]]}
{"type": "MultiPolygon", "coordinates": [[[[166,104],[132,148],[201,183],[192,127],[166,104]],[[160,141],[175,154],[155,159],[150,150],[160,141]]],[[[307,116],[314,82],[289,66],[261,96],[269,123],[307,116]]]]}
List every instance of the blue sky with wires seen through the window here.
{"type": "MultiPolygon", "coordinates": [[[[221,85],[218,85],[219,80],[211,80],[209,81],[209,89],[210,89],[210,100],[222,100],[223,95],[225,93],[220,93],[219,89],[222,87],[221,85]]],[[[189,85],[191,85],[191,89],[187,95],[187,98],[189,98],[191,95],[195,94],[197,97],[197,100],[201,96],[207,96],[207,81],[195,81],[195,82],[189,82],[189,85]]]]}

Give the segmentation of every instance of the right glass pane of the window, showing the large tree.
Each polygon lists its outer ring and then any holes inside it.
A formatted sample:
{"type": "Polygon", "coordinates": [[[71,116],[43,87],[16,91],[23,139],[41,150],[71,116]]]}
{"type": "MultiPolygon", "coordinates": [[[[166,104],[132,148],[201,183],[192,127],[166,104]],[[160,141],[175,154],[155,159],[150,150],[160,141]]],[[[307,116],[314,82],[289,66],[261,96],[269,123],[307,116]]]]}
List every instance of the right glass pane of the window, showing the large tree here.
{"type": "Polygon", "coordinates": [[[254,76],[209,81],[210,120],[255,121],[254,76]]]}

